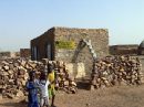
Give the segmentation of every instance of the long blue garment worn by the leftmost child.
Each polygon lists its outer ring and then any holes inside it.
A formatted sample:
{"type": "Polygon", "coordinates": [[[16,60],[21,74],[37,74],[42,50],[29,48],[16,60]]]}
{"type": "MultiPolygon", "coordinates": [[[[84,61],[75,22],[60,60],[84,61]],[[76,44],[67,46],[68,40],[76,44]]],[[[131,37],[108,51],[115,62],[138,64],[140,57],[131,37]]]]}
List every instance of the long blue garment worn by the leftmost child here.
{"type": "Polygon", "coordinates": [[[27,89],[29,92],[28,95],[28,107],[39,107],[39,103],[38,103],[38,89],[37,89],[37,84],[34,82],[30,82],[28,81],[27,83],[27,89]]]}

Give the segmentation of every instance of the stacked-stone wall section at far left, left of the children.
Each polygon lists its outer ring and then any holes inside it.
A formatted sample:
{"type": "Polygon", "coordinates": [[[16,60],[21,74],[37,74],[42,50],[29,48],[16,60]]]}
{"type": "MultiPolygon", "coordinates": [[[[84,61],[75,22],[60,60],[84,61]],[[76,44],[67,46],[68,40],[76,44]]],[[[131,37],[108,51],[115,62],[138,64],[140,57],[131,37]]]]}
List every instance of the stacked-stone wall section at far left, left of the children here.
{"type": "Polygon", "coordinates": [[[7,58],[0,62],[0,94],[14,98],[24,96],[29,71],[35,67],[34,62],[20,58],[7,58]]]}

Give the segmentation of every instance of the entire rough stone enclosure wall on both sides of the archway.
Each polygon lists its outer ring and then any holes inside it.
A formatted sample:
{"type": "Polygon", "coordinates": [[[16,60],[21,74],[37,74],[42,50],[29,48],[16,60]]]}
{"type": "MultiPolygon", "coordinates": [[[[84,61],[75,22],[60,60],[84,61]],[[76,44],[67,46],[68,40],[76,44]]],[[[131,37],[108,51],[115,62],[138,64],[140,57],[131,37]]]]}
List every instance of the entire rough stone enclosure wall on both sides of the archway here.
{"type": "MultiPolygon", "coordinates": [[[[29,72],[35,71],[37,78],[39,78],[40,74],[47,69],[47,63],[54,66],[58,79],[56,88],[75,94],[75,78],[85,76],[83,63],[75,63],[75,67],[73,63],[48,61],[48,58],[41,62],[30,61],[29,58],[7,58],[0,61],[0,98],[27,96],[25,83],[29,78],[29,72]]],[[[91,74],[91,89],[115,85],[141,85],[144,83],[141,66],[138,57],[128,55],[96,58],[91,74]]]]}

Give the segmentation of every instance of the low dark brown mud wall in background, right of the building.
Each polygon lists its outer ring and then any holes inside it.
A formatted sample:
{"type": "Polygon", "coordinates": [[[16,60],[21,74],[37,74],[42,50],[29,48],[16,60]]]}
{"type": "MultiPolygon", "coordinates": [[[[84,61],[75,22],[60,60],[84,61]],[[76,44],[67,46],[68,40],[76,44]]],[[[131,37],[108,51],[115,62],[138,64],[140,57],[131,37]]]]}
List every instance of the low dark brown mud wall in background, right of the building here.
{"type": "Polygon", "coordinates": [[[130,44],[130,45],[111,45],[110,54],[112,55],[137,55],[138,54],[138,45],[130,44]]]}

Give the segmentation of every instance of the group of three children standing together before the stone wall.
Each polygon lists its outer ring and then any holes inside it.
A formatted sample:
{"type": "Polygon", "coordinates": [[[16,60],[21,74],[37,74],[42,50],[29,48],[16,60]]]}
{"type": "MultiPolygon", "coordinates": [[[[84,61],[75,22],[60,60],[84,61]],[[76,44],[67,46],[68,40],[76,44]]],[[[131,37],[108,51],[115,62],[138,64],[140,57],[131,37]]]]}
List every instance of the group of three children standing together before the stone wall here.
{"type": "Polygon", "coordinates": [[[28,107],[51,107],[54,106],[55,97],[55,73],[53,71],[52,64],[48,65],[48,72],[41,72],[40,78],[35,78],[35,72],[30,71],[29,79],[25,84],[28,95],[28,107]],[[40,95],[40,100],[38,95],[40,95]]]}

